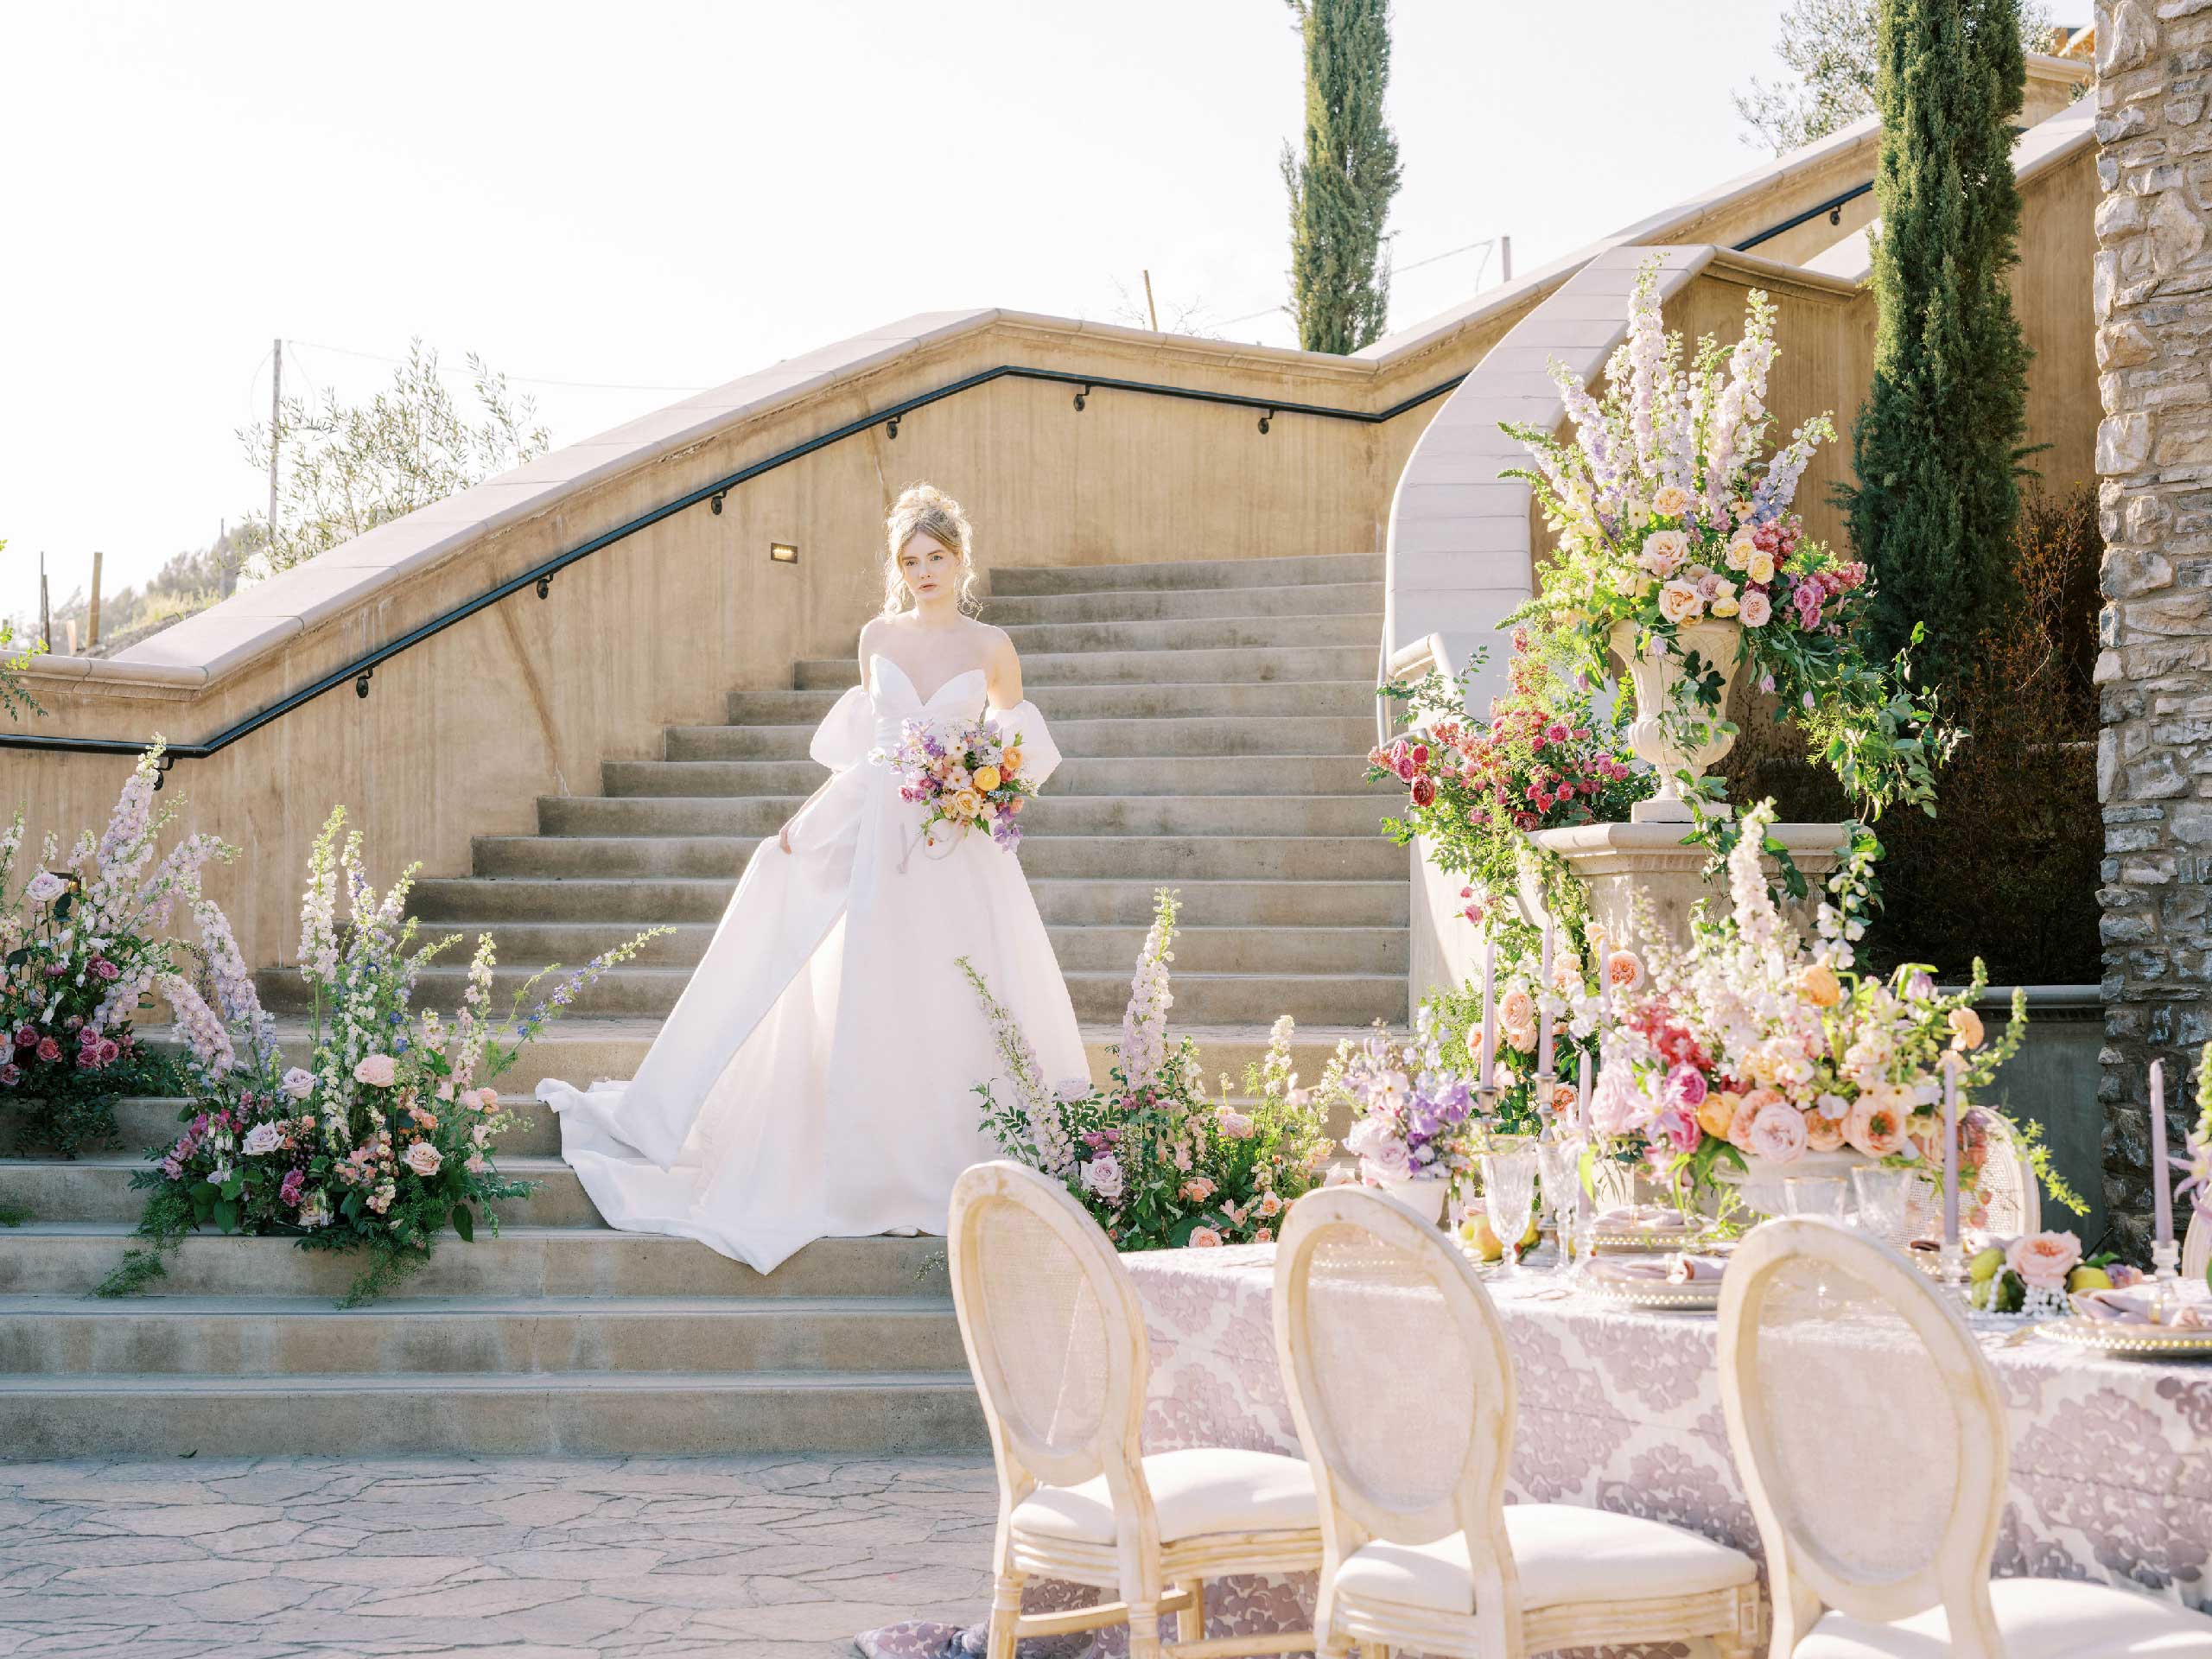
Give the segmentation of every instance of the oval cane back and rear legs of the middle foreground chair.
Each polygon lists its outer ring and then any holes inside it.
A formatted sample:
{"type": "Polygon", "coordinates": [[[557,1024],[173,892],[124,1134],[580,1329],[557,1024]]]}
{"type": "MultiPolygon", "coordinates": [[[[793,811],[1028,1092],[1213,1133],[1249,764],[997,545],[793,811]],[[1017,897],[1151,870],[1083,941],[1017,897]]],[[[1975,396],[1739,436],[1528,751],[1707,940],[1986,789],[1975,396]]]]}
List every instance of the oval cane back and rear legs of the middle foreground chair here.
{"type": "Polygon", "coordinates": [[[1520,1652],[1504,1531],[1513,1365],[1467,1256],[1383,1192],[1307,1192],[1276,1245],[1274,1343],[1321,1498],[1321,1639],[1354,1551],[1467,1533],[1482,1650],[1520,1652]]]}

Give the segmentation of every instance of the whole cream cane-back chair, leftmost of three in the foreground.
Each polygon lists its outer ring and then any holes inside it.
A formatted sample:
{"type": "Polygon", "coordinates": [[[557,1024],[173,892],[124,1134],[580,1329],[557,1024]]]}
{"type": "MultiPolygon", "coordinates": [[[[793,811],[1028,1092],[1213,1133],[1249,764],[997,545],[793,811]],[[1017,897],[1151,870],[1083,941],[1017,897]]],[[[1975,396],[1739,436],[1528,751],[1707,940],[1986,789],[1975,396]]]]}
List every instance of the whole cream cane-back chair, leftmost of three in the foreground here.
{"type": "Polygon", "coordinates": [[[1066,1188],[1020,1164],[953,1186],[960,1340],[998,1460],[991,1659],[1020,1637],[1128,1624],[1130,1659],[1296,1652],[1312,1630],[1206,1639],[1206,1582],[1321,1566],[1314,1478],[1270,1451],[1144,1455],[1144,1310],[1113,1243],[1066,1188]],[[1031,1577],[1117,1593],[1022,1613],[1031,1577]],[[1159,1621],[1175,1615],[1175,1637],[1159,1621]]]}

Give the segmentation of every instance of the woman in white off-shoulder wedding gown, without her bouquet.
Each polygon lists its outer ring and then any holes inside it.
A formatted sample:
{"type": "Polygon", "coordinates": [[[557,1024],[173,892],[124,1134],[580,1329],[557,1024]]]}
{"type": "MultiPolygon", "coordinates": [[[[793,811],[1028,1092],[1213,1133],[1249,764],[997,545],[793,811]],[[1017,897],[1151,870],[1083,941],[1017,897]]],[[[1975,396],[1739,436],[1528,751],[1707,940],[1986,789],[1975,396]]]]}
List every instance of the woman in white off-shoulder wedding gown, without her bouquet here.
{"type": "Polygon", "coordinates": [[[975,832],[922,843],[922,807],[872,759],[902,721],[982,717],[1020,739],[1031,783],[1060,761],[1013,641],[969,615],[960,504],[914,484],[885,531],[860,684],[810,748],[830,779],[745,865],[637,1077],[538,1086],[608,1225],[699,1239],[759,1272],[810,1239],[945,1232],[953,1179],[998,1155],[973,1088],[1000,1064],[956,958],[1015,1015],[1042,1077],[1086,1075],[1015,854],[975,832]]]}

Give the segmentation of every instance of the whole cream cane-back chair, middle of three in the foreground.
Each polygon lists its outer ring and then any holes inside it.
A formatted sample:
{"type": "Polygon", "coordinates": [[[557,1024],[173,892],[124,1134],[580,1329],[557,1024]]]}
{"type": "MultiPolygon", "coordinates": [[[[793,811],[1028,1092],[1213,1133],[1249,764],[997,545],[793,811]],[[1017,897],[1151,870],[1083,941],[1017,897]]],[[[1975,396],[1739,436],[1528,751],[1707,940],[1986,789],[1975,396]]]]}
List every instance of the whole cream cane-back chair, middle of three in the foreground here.
{"type": "Polygon", "coordinates": [[[1712,1639],[1747,1659],[1759,1575],[1666,1522],[1506,1504],[1513,1363],[1467,1256],[1363,1188],[1298,1199],[1274,1261],[1274,1340],[1321,1493],[1332,1650],[1469,1659],[1712,1639]]]}

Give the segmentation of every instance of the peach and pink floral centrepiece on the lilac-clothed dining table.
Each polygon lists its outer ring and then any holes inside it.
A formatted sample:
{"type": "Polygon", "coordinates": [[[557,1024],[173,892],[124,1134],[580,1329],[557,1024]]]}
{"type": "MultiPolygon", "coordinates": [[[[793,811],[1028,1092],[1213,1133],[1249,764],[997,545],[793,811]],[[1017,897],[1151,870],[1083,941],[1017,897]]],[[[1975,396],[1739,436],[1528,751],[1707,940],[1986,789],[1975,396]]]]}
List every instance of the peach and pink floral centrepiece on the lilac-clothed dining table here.
{"type": "MultiPolygon", "coordinates": [[[[1772,803],[1745,812],[1728,858],[1732,911],[1699,916],[1688,951],[1648,947],[1650,982],[1608,1020],[1590,1130],[1650,1164],[1688,1206],[1717,1181],[1774,1181],[1790,1166],[1849,1150],[1858,1161],[1924,1168],[1940,1157],[1947,1068],[1960,1097],[1986,1088],[2026,1031],[2015,991],[2004,1037],[1984,1042],[1973,1011],[1986,984],[1942,993],[1918,967],[1887,980],[1854,971],[1849,929],[1865,860],[1832,878],[1816,940],[1776,909],[1759,863],[1772,803]]],[[[1962,1113],[1962,1186],[1980,1170],[1980,1128],[1993,1113],[1962,1113]]],[[[2013,1124],[2046,1192],[2075,1212],[2035,1124],[2013,1124]]]]}

